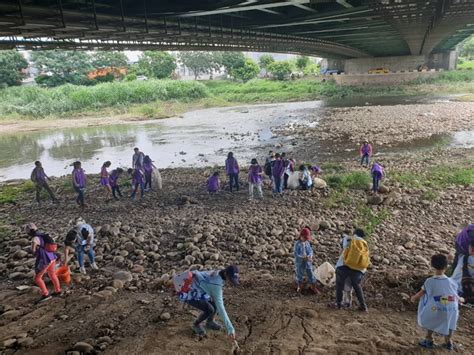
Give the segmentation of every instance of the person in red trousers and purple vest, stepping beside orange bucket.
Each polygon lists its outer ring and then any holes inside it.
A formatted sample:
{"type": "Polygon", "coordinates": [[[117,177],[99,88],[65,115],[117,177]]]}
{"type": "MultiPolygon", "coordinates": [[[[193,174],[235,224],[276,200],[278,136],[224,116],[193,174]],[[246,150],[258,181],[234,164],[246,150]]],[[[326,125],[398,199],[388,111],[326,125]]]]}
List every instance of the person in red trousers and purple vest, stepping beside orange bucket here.
{"type": "Polygon", "coordinates": [[[38,231],[38,227],[34,223],[28,223],[25,226],[25,233],[32,237],[31,250],[36,256],[35,261],[35,283],[41,290],[41,299],[39,302],[49,300],[51,296],[61,295],[61,285],[56,275],[56,253],[47,251],[45,244],[52,241],[51,237],[45,233],[38,231]],[[54,293],[50,295],[46,287],[43,277],[48,274],[49,279],[53,283],[54,293]]]}

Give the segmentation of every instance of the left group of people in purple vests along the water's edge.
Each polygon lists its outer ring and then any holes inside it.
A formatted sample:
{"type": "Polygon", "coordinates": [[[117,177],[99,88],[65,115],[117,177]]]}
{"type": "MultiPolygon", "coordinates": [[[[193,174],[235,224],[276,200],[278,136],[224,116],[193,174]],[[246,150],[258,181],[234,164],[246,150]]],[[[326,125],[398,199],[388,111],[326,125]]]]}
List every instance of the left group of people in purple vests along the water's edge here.
{"type": "MultiPolygon", "coordinates": [[[[80,161],[75,161],[72,170],[72,186],[77,193],[76,202],[78,205],[85,206],[85,191],[87,186],[87,175],[82,168],[80,161]]],[[[109,201],[112,198],[119,199],[123,197],[120,190],[119,179],[125,172],[122,168],[116,168],[109,171],[112,163],[110,161],[104,162],[100,169],[100,185],[104,187],[106,192],[106,199],[109,201]]],[[[144,197],[146,191],[152,189],[152,176],[156,166],[148,155],[145,155],[139,148],[134,149],[132,156],[132,167],[127,169],[127,173],[131,179],[132,191],[130,197],[135,199],[138,190],[140,190],[140,198],[144,197]]],[[[44,172],[40,161],[35,162],[35,168],[31,172],[31,181],[36,187],[36,201],[41,203],[41,191],[44,189],[50,196],[53,203],[58,203],[58,199],[54,192],[49,187],[48,181],[50,178],[44,172]]]]}

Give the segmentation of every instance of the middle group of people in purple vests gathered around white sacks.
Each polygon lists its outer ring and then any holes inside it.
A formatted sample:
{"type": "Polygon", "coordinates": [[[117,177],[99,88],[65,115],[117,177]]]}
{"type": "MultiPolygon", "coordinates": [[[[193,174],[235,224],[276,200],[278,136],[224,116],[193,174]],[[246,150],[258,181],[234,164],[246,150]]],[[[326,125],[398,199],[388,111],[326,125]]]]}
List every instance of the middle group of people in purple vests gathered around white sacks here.
{"type": "MultiPolygon", "coordinates": [[[[249,200],[257,197],[263,199],[263,182],[264,175],[270,179],[273,196],[279,196],[285,189],[309,190],[313,186],[313,180],[321,174],[321,168],[314,165],[300,165],[298,171],[295,169],[296,162],[294,159],[287,159],[285,153],[269,152],[265,159],[265,165],[262,167],[256,158],[250,161],[248,168],[247,182],[249,186],[249,200]],[[294,182],[290,181],[290,177],[294,176],[294,182]]],[[[229,152],[225,161],[225,173],[229,181],[230,192],[239,191],[239,173],[240,167],[237,159],[232,152],[229,152]]],[[[219,171],[215,171],[207,179],[207,190],[209,193],[217,193],[223,188],[219,179],[219,171]]]]}

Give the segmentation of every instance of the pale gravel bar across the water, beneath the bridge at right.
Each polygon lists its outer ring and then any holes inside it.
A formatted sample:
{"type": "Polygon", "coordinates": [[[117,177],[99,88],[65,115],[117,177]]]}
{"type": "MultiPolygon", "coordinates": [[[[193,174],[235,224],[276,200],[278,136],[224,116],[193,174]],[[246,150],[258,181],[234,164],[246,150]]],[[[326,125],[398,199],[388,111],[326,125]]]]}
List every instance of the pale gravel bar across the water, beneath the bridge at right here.
{"type": "Polygon", "coordinates": [[[474,130],[474,103],[330,108],[323,120],[311,115],[305,118],[304,124],[277,128],[275,133],[293,135],[305,141],[322,141],[322,146],[334,142],[357,145],[369,139],[376,146],[390,147],[432,136],[474,130]],[[318,121],[318,124],[311,124],[313,121],[318,121]]]}

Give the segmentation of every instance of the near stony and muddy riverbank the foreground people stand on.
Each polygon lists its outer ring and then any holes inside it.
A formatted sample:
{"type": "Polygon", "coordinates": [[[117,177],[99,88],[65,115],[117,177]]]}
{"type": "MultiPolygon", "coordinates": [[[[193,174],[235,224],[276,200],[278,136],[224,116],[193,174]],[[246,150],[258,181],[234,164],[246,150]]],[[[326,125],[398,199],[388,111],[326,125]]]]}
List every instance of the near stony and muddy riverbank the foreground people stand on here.
{"type": "MultiPolygon", "coordinates": [[[[210,170],[168,169],[162,172],[166,190],[149,193],[142,202],[105,203],[98,180],[91,179],[88,206],[81,211],[67,181],[55,179],[60,205],[35,208],[30,193],[0,207],[7,230],[0,241],[0,338],[11,347],[6,353],[60,354],[77,342],[110,354],[228,352],[231,344],[223,333],[202,341],[192,336],[193,311],[183,309],[166,287],[175,271],[227,263],[242,269],[242,285],[227,289],[225,299],[243,353],[418,353],[416,306],[404,300],[429,275],[433,253],[452,258],[456,232],[474,215],[474,187],[453,184],[427,199],[424,187],[401,183],[391,171],[425,172],[444,164],[473,168],[473,152],[387,157],[380,205],[368,205],[364,189],[349,189],[344,199],[336,189],[294,191],[277,199],[265,189],[264,201],[250,203],[244,183],[238,193],[209,196],[203,184],[210,170]],[[327,310],[332,288],[318,297],[295,295],[292,248],[302,226],[317,231],[315,264],[334,264],[340,233],[368,223],[364,216],[382,214],[370,237],[372,267],[364,284],[369,314],[327,310]],[[38,289],[21,226],[34,221],[61,241],[78,216],[96,228],[100,270],[83,276],[73,266],[66,296],[34,306],[38,289]],[[15,288],[21,285],[29,288],[15,288]]],[[[337,167],[367,173],[359,169],[352,162],[337,167]]],[[[473,315],[461,312],[455,336],[463,345],[460,353],[474,346],[473,315]]]]}

